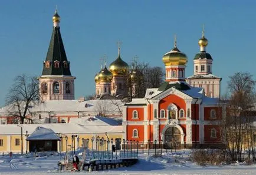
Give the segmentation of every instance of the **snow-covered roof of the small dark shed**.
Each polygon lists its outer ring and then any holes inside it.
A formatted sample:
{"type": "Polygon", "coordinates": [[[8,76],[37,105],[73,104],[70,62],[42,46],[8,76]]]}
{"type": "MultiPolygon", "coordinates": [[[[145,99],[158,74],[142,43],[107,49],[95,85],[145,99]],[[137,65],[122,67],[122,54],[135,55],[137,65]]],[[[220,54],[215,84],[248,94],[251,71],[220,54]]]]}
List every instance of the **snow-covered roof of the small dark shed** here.
{"type": "Polygon", "coordinates": [[[27,140],[60,140],[60,137],[50,128],[37,127],[27,140]]]}

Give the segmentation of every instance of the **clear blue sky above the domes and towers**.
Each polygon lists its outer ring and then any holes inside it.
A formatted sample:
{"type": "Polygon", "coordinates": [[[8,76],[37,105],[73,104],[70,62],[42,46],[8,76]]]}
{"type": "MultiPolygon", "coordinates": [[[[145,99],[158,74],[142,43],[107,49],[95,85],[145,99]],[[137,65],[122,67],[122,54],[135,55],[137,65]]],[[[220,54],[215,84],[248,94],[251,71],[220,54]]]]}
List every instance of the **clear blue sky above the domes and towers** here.
{"type": "Polygon", "coordinates": [[[114,61],[119,39],[124,61],[137,55],[164,68],[162,55],[176,34],[192,75],[202,24],[222,94],[234,72],[256,74],[256,1],[0,1],[0,106],[15,76],[41,75],[56,4],[76,98],[94,93],[100,57],[114,61]]]}

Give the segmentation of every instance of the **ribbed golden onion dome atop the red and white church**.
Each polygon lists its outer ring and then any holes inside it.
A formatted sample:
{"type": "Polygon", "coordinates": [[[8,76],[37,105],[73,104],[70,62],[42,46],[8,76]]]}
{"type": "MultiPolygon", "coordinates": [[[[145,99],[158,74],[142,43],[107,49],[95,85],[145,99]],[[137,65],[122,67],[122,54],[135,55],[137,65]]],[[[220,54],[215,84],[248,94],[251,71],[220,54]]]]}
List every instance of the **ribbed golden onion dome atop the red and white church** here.
{"type": "Polygon", "coordinates": [[[163,63],[165,66],[168,65],[186,65],[188,62],[188,58],[186,57],[186,54],[183,52],[180,52],[179,49],[176,46],[176,39],[175,39],[175,45],[172,50],[167,52],[165,55],[163,55],[163,63]]]}

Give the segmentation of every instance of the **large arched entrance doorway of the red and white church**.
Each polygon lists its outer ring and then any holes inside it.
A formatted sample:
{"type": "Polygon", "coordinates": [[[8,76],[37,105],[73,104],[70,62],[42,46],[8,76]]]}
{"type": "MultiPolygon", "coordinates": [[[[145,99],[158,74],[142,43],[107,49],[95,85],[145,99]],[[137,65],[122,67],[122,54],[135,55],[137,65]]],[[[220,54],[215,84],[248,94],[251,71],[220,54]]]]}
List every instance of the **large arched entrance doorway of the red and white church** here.
{"type": "Polygon", "coordinates": [[[180,130],[177,127],[169,127],[165,131],[165,148],[180,148],[180,130]]]}

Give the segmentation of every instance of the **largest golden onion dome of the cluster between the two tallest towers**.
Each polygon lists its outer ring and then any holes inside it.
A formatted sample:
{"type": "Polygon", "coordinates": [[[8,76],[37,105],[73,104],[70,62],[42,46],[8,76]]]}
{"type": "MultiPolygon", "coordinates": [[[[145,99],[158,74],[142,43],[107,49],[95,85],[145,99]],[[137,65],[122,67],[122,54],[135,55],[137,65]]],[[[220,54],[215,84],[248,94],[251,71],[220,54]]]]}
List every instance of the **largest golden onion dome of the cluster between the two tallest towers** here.
{"type": "Polygon", "coordinates": [[[124,75],[129,70],[129,65],[122,60],[122,58],[120,57],[120,52],[116,60],[111,62],[111,64],[109,65],[109,70],[113,74],[113,76],[124,75]]]}

